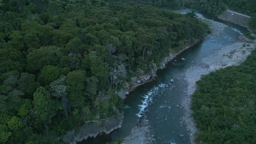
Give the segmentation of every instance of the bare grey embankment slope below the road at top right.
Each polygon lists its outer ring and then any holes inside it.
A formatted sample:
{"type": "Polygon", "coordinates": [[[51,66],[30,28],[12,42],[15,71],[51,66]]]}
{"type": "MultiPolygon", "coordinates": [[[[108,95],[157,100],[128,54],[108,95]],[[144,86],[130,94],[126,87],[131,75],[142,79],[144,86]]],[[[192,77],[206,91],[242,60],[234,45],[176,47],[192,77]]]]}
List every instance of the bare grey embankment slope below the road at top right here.
{"type": "Polygon", "coordinates": [[[238,14],[229,10],[224,11],[223,14],[218,16],[219,19],[230,21],[237,25],[247,27],[248,28],[248,21],[250,19],[249,16],[238,14]]]}

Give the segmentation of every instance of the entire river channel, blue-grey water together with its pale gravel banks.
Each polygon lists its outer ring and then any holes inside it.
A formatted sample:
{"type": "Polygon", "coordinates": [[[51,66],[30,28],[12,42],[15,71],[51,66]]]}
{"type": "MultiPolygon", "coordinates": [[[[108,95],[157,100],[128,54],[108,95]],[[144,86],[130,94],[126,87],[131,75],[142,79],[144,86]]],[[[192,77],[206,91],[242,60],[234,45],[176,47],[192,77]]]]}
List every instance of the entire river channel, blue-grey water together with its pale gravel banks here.
{"type": "Polygon", "coordinates": [[[122,127],[80,144],[112,143],[121,138],[124,143],[193,143],[196,128],[189,106],[195,82],[210,71],[240,64],[254,45],[241,42],[245,28],[204,16],[210,19],[204,18],[213,33],[175,57],[165,69],[158,70],[154,81],[127,95],[122,127]],[[243,47],[245,43],[247,46],[243,47]]]}

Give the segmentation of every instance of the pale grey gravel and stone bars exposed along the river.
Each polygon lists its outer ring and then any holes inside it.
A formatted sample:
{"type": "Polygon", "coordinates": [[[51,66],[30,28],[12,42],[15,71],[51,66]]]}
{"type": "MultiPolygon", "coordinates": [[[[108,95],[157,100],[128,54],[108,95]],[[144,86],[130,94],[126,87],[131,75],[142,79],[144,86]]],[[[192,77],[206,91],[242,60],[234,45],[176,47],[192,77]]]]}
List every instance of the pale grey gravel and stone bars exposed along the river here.
{"type": "MultiPolygon", "coordinates": [[[[197,14],[197,17],[207,22],[212,29],[212,33],[206,38],[214,37],[214,35],[222,35],[224,29],[228,27],[223,23],[205,19],[200,14],[197,14]]],[[[184,71],[184,73],[177,78],[184,81],[184,87],[186,87],[187,90],[183,94],[182,105],[180,106],[185,110],[185,114],[180,119],[179,123],[181,125],[186,125],[191,143],[194,143],[193,140],[197,131],[193,118],[191,117],[192,111],[190,110],[191,95],[196,89],[196,81],[200,80],[201,75],[208,74],[211,71],[242,63],[254,47],[255,41],[248,40],[243,35],[240,35],[240,41],[221,47],[217,51],[211,53],[210,56],[203,58],[201,62],[197,62],[195,66],[191,67],[189,70],[184,71]]],[[[183,134],[179,134],[179,136],[183,137],[183,134]]],[[[154,143],[155,139],[159,139],[159,137],[150,134],[148,120],[140,119],[136,127],[132,129],[131,134],[124,139],[123,143],[154,143]]]]}

